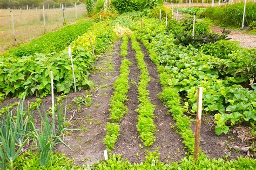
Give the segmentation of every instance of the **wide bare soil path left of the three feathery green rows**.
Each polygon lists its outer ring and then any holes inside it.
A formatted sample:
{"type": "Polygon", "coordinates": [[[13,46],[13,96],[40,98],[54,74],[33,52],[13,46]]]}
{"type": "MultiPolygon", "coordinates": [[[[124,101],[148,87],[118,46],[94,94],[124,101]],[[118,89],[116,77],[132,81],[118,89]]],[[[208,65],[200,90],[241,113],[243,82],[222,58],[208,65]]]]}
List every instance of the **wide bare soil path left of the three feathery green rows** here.
{"type": "Polygon", "coordinates": [[[107,52],[96,63],[96,73],[90,76],[96,88],[92,91],[92,104],[89,108],[82,108],[81,112],[72,119],[72,128],[85,131],[73,131],[64,141],[73,149],[58,145],[57,151],[63,152],[70,158],[75,158],[75,164],[90,164],[104,158],[105,144],[103,138],[106,134],[105,124],[109,119],[109,101],[113,93],[112,83],[119,75],[120,42],[113,52],[107,52]]]}

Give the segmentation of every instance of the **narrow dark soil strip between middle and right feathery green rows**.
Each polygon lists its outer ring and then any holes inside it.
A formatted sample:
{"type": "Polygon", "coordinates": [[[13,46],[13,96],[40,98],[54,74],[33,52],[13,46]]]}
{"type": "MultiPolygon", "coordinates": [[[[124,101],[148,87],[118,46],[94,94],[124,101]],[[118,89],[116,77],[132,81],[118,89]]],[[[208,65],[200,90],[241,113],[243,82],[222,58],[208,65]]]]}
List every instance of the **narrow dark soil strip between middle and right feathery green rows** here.
{"type": "Polygon", "coordinates": [[[149,53],[145,46],[140,43],[140,48],[142,49],[145,57],[144,61],[147,64],[147,69],[150,74],[150,82],[148,89],[150,91],[151,103],[156,105],[154,109],[154,124],[157,126],[156,141],[151,147],[151,150],[156,150],[159,148],[160,160],[163,162],[179,161],[184,157],[184,145],[182,144],[182,139],[179,134],[171,129],[171,126],[175,126],[175,122],[170,116],[167,116],[167,109],[161,101],[158,99],[158,94],[161,93],[161,85],[159,83],[159,75],[157,72],[157,67],[152,63],[149,53]]]}

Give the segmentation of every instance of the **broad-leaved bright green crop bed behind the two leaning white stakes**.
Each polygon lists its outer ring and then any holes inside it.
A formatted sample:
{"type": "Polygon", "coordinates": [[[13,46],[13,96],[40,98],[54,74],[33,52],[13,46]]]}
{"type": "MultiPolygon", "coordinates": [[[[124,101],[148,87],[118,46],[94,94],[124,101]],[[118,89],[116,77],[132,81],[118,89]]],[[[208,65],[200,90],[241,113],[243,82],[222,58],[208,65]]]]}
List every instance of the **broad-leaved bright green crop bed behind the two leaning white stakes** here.
{"type": "MultiPolygon", "coordinates": [[[[112,43],[113,31],[108,21],[96,23],[91,26],[83,36],[71,43],[73,65],[75,69],[76,87],[92,87],[92,81],[88,80],[89,70],[95,61],[90,38],[95,47],[96,54],[102,53],[112,43]]],[[[74,82],[68,48],[63,53],[22,56],[21,58],[1,58],[0,62],[0,90],[7,95],[23,96],[48,95],[50,90],[50,71],[54,75],[54,88],[57,93],[70,93],[74,90],[74,82]],[[11,76],[10,76],[11,75],[11,76]]]]}

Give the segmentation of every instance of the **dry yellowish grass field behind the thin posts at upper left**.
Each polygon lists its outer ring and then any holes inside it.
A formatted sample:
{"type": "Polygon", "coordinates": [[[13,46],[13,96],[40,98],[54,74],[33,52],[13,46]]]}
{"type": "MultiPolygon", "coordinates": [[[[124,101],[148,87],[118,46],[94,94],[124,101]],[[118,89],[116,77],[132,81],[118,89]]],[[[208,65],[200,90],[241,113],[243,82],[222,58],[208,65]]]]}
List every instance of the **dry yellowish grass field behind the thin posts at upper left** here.
{"type": "Polygon", "coordinates": [[[28,10],[0,9],[0,52],[6,51],[13,45],[14,34],[17,44],[21,44],[63,26],[64,18],[67,24],[71,24],[86,15],[84,4],[60,5],[58,8],[52,9],[46,5],[44,8],[45,15],[43,15],[42,7],[28,10]],[[11,13],[14,16],[14,34],[11,13]]]}

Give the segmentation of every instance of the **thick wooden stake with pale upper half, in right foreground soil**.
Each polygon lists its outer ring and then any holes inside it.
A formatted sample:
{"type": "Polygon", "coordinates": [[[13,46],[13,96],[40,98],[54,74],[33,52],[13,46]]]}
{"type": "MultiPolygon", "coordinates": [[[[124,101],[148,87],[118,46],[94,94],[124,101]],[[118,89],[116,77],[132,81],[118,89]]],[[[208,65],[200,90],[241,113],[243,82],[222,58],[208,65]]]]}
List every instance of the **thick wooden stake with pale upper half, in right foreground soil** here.
{"type": "Polygon", "coordinates": [[[201,128],[201,115],[202,115],[202,102],[203,102],[203,87],[198,88],[197,92],[197,125],[196,125],[196,136],[194,144],[194,159],[198,159],[199,154],[199,138],[201,128]]]}

